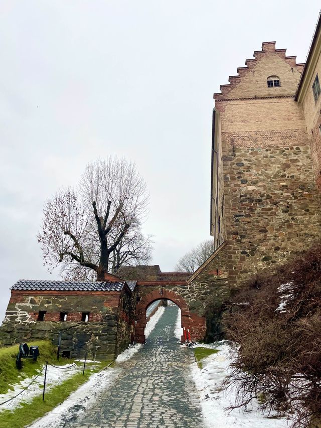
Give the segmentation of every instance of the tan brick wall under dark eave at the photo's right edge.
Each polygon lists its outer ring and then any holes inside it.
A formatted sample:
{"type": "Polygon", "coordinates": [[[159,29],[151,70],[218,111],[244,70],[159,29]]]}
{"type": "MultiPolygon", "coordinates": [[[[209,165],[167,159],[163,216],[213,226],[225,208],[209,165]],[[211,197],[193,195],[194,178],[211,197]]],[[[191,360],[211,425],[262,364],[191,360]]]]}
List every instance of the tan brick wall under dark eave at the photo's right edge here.
{"type": "Polygon", "coordinates": [[[315,181],[319,192],[321,192],[321,95],[314,101],[312,84],[318,74],[321,81],[321,55],[319,55],[312,77],[308,84],[308,90],[303,100],[303,112],[307,129],[307,136],[311,147],[311,156],[314,165],[315,181]]]}

